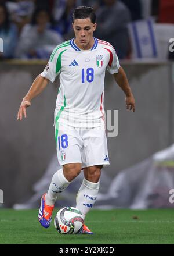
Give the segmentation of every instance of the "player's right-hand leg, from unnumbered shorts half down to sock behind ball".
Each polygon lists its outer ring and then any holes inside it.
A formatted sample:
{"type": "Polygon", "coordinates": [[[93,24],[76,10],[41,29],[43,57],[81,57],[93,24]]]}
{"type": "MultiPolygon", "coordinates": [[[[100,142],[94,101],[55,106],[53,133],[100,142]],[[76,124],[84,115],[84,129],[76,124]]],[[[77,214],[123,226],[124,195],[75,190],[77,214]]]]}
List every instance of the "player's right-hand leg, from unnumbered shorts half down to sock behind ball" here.
{"type": "Polygon", "coordinates": [[[109,165],[107,138],[104,129],[83,131],[82,169],[84,180],[77,194],[76,207],[84,218],[96,202],[103,165],[109,165]]]}

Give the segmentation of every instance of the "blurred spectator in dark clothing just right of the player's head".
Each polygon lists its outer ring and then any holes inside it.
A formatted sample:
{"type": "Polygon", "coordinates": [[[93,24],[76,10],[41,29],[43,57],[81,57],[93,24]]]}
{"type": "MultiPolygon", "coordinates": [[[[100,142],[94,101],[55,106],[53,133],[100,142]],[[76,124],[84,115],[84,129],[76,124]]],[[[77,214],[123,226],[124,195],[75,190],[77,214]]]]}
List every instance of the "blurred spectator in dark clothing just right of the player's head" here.
{"type": "Polygon", "coordinates": [[[110,42],[115,48],[119,59],[129,54],[128,22],[131,14],[124,3],[118,0],[104,0],[105,5],[97,12],[96,37],[110,42]]]}

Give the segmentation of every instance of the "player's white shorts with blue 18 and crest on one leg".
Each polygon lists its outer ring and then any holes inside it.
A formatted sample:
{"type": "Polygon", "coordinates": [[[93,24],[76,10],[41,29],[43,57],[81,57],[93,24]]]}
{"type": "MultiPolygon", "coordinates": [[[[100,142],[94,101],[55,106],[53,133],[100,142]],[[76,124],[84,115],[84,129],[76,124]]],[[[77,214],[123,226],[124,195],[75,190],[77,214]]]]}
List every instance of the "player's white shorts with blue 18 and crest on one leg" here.
{"type": "Polygon", "coordinates": [[[60,165],[82,163],[82,168],[84,168],[110,164],[104,127],[86,130],[59,123],[57,130],[56,147],[60,165]]]}

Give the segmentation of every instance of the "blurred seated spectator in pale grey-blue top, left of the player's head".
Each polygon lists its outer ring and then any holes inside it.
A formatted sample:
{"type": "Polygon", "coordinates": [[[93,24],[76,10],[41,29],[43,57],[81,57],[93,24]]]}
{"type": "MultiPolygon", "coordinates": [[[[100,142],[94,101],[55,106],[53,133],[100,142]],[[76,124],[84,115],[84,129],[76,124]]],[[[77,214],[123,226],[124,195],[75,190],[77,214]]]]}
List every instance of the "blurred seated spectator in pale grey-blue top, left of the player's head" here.
{"type": "Polygon", "coordinates": [[[31,24],[27,24],[21,32],[16,51],[17,58],[49,58],[53,48],[63,42],[63,37],[50,29],[50,22],[48,10],[35,10],[31,24]]]}

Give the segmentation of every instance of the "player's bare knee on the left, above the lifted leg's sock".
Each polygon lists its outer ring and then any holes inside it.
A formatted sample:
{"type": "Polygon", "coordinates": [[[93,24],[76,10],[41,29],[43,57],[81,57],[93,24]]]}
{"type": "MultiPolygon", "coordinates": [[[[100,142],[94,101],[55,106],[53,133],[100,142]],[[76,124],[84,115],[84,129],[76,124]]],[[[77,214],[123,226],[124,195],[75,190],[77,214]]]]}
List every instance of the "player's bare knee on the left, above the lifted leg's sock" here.
{"type": "Polygon", "coordinates": [[[66,179],[71,182],[81,173],[81,164],[79,163],[70,163],[63,166],[63,172],[66,179]]]}

